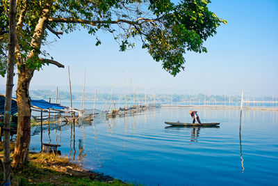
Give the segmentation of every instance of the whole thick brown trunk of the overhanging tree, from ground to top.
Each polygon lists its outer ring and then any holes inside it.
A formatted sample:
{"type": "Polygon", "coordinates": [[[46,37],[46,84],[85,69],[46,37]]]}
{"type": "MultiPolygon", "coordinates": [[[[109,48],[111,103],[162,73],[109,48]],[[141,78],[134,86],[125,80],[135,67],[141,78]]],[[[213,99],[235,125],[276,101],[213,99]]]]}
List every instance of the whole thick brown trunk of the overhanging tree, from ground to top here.
{"type": "MultiPolygon", "coordinates": [[[[47,22],[49,12],[53,0],[45,1],[42,15],[35,26],[33,37],[31,39],[31,47],[33,49],[28,54],[27,60],[36,60],[38,50],[42,44],[44,34],[44,24],[47,22]]],[[[34,61],[38,62],[38,61],[34,61]]],[[[13,165],[15,167],[28,161],[29,145],[31,139],[31,98],[29,97],[29,85],[33,77],[35,69],[28,69],[24,61],[17,62],[18,80],[17,80],[17,109],[18,109],[18,124],[17,124],[17,139],[15,141],[15,154],[13,165]]]]}

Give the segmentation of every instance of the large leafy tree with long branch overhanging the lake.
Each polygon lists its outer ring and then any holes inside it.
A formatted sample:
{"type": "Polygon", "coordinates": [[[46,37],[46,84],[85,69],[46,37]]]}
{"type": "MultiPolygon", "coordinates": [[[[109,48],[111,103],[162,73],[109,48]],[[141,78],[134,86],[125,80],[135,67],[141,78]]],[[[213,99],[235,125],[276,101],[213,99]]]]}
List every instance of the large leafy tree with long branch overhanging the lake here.
{"type": "MultiPolygon", "coordinates": [[[[1,1],[5,9],[6,1],[1,1]]],[[[142,42],[155,61],[161,61],[163,69],[172,75],[184,69],[186,51],[206,52],[204,41],[216,33],[221,23],[226,23],[208,10],[205,0],[22,0],[17,3],[18,70],[17,106],[18,129],[14,163],[28,160],[30,143],[30,98],[29,84],[35,70],[42,65],[57,61],[45,59],[47,52],[41,45],[47,44],[47,36],[54,33],[70,33],[87,29],[95,36],[95,45],[100,45],[99,30],[111,33],[120,44],[120,51],[134,46],[134,40],[142,42]],[[59,30],[59,31],[57,31],[59,30]],[[44,58],[42,58],[44,57],[44,58]]],[[[1,12],[0,22],[5,22],[7,11],[1,12]]],[[[1,26],[1,50],[5,51],[6,26],[1,26]],[[3,28],[3,29],[2,29],[3,28]]],[[[4,53],[4,52],[3,52],[4,53]]],[[[2,54],[3,58],[3,54],[2,54]]],[[[2,61],[3,63],[3,61],[2,61]]],[[[3,65],[2,65],[3,66],[3,65]]],[[[1,69],[2,74],[4,74],[1,69]]]]}

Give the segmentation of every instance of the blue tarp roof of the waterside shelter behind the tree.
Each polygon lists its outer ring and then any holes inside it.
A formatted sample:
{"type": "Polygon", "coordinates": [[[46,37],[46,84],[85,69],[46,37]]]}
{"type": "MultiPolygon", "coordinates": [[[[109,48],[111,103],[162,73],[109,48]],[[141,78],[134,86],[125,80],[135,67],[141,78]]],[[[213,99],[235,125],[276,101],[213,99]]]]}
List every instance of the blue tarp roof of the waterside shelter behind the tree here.
{"type": "MultiPolygon", "coordinates": [[[[0,94],[0,114],[4,114],[4,109],[5,109],[5,99],[6,96],[0,94]]],[[[57,109],[57,110],[69,110],[70,108],[68,107],[63,107],[60,106],[59,104],[55,103],[50,103],[45,100],[31,100],[31,107],[36,108],[36,109],[57,109]]],[[[15,98],[12,99],[12,107],[11,107],[11,114],[17,113],[17,100],[15,98]]],[[[70,109],[70,110],[75,110],[76,109],[70,109]]]]}

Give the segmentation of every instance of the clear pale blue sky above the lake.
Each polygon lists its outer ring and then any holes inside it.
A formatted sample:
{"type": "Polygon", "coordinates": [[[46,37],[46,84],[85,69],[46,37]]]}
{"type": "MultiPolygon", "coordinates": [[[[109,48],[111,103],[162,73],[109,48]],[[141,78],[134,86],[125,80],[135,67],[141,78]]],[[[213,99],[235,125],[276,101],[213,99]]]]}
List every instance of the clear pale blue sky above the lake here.
{"type": "MultiPolygon", "coordinates": [[[[278,96],[278,1],[212,0],[210,10],[227,20],[204,46],[206,54],[188,52],[185,71],[172,77],[156,63],[140,43],[135,49],[119,52],[109,33],[99,33],[102,44],[86,31],[65,34],[47,52],[66,68],[46,66],[35,72],[31,88],[38,85],[67,86],[70,65],[72,85],[168,88],[172,93],[209,93],[278,96]]],[[[51,36],[50,40],[54,40],[51,36]]],[[[17,79],[15,79],[15,84],[17,79]]],[[[1,78],[0,84],[6,84],[1,78]]],[[[14,88],[15,89],[15,88],[14,88]]]]}

